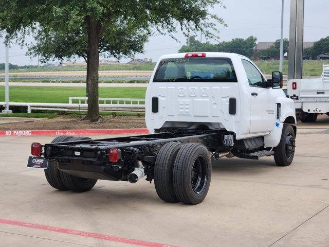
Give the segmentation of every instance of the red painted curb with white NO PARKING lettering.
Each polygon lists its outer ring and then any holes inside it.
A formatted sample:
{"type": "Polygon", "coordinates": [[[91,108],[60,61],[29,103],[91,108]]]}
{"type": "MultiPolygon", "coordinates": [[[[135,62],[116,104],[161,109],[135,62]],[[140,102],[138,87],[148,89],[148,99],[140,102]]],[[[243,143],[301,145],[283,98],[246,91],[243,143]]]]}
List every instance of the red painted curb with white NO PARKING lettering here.
{"type": "Polygon", "coordinates": [[[0,136],[43,136],[43,135],[120,135],[149,134],[148,129],[105,129],[105,130],[5,130],[0,136]]]}

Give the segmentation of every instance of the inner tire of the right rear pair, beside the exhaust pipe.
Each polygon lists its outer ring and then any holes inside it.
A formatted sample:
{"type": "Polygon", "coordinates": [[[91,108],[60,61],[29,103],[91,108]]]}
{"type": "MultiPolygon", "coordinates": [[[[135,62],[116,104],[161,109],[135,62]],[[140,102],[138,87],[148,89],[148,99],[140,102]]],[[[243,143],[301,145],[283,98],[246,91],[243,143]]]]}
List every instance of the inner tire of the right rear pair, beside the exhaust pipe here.
{"type": "Polygon", "coordinates": [[[179,202],[173,185],[173,168],[181,143],[166,143],[160,149],[154,165],[154,185],[160,199],[166,202],[179,202]]]}

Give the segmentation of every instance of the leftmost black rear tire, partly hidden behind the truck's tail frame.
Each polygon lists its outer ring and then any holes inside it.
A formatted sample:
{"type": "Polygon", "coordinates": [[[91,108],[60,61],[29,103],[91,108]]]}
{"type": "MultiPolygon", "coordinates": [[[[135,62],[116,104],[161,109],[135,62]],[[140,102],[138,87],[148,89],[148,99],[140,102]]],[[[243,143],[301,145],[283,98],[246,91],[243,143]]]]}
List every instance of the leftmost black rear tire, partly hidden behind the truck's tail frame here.
{"type": "MultiPolygon", "coordinates": [[[[61,143],[67,142],[69,139],[74,138],[72,136],[61,135],[52,140],[51,143],[61,143]]],[[[49,160],[48,167],[45,169],[45,176],[50,184],[55,189],[59,190],[68,190],[66,186],[63,184],[62,179],[60,177],[60,171],[57,168],[57,160],[49,160]]]]}

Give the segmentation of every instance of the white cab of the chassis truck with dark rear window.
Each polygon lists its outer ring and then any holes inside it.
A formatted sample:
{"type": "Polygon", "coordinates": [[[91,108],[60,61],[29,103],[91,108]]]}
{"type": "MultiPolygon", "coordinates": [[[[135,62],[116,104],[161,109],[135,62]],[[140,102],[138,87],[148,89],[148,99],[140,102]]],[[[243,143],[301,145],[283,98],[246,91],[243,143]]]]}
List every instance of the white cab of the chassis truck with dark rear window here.
{"type": "Polygon", "coordinates": [[[271,133],[284,122],[296,123],[294,103],[281,90],[280,79],[280,73],[273,73],[266,80],[251,60],[237,54],[162,56],[145,97],[147,127],[151,133],[225,129],[236,139],[267,136],[268,145],[275,147],[280,133],[275,139],[271,133]]]}

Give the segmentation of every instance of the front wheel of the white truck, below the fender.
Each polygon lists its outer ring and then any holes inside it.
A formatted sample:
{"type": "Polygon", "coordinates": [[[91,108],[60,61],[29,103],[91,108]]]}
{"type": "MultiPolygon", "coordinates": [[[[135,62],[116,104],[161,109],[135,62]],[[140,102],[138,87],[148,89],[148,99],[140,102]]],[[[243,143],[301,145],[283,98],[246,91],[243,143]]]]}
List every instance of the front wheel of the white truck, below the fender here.
{"type": "Polygon", "coordinates": [[[278,166],[289,166],[295,154],[295,131],[291,125],[284,124],[279,145],[274,149],[274,160],[278,166]]]}

